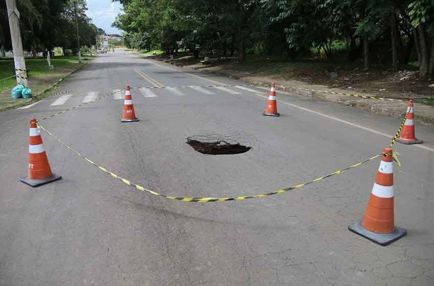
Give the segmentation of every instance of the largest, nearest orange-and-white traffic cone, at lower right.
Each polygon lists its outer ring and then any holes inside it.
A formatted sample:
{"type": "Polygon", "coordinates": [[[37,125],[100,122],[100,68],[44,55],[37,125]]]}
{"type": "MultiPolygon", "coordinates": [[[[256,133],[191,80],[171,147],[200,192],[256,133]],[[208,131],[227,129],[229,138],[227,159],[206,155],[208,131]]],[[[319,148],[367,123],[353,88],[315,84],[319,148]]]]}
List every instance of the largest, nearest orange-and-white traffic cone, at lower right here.
{"type": "Polygon", "coordinates": [[[393,156],[392,149],[384,149],[380,167],[363,220],[348,228],[379,245],[388,245],[407,234],[396,227],[393,210],[393,156]]]}

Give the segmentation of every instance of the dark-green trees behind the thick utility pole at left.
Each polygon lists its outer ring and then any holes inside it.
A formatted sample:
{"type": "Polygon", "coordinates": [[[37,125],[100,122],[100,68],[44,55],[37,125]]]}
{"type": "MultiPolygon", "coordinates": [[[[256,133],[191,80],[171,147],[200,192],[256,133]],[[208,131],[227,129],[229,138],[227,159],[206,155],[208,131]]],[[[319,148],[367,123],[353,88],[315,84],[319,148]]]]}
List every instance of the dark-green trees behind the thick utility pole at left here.
{"type": "MultiPolygon", "coordinates": [[[[79,26],[80,43],[93,45],[96,36],[104,34],[85,12],[85,0],[16,0],[20,12],[20,29],[24,49],[34,54],[55,46],[77,50],[75,17],[79,26]],[[75,9],[78,8],[78,9],[75,9]]],[[[0,0],[0,46],[11,49],[11,37],[6,1],[0,0]]]]}

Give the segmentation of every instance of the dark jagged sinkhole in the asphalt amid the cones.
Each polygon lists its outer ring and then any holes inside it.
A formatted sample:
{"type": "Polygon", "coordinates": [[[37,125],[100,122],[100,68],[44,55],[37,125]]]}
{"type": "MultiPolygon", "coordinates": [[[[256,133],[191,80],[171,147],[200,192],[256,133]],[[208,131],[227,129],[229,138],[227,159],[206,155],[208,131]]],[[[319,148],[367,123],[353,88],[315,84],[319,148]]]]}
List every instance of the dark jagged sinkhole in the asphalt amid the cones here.
{"type": "Polygon", "coordinates": [[[252,147],[240,145],[227,136],[217,134],[190,136],[187,137],[187,144],[197,152],[209,155],[240,154],[252,149],[252,147]]]}

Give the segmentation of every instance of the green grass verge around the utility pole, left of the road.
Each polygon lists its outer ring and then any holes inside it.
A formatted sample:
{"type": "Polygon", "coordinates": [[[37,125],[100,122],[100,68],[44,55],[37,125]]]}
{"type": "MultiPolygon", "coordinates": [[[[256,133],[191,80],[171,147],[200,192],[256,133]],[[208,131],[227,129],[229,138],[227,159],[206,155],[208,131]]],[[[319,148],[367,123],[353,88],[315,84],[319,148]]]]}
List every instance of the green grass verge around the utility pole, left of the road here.
{"type": "MultiPolygon", "coordinates": [[[[89,60],[83,60],[83,63],[88,63],[92,60],[90,57],[87,58],[89,60]]],[[[12,76],[12,62],[13,59],[0,59],[0,78],[12,76]]],[[[53,69],[48,67],[46,59],[26,58],[26,67],[30,69],[28,73],[29,87],[32,89],[34,95],[47,89],[59,79],[81,66],[78,63],[77,56],[54,57],[51,59],[51,64],[54,65],[53,69]]],[[[38,98],[14,100],[10,96],[10,90],[15,85],[15,77],[0,80],[0,110],[24,106],[49,95],[47,92],[47,94],[41,94],[38,98]]]]}

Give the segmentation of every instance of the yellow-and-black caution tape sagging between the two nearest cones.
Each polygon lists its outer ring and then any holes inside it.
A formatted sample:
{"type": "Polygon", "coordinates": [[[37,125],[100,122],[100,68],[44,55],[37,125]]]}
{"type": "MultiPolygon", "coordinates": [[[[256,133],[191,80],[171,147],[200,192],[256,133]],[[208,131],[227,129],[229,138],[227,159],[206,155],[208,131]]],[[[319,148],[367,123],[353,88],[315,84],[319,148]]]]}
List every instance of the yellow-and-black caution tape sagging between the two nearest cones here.
{"type": "Polygon", "coordinates": [[[169,199],[169,200],[176,200],[176,201],[182,201],[182,202],[199,202],[199,203],[205,203],[205,202],[242,201],[242,200],[246,200],[246,199],[264,198],[264,197],[268,197],[268,196],[271,196],[271,195],[284,194],[284,193],[288,192],[289,190],[296,189],[296,188],[301,188],[301,187],[304,187],[304,186],[309,185],[309,184],[311,184],[311,183],[318,182],[318,181],[324,180],[324,179],[326,179],[326,178],[330,178],[330,177],[333,177],[333,176],[339,175],[339,174],[341,174],[342,172],[348,171],[348,170],[350,170],[350,169],[354,169],[354,168],[356,168],[357,166],[360,166],[360,165],[362,165],[362,164],[364,164],[364,163],[367,163],[367,162],[369,162],[369,161],[372,161],[372,160],[374,160],[374,159],[376,159],[376,158],[378,158],[378,157],[381,156],[381,155],[375,155],[375,156],[373,156],[373,157],[371,157],[371,158],[369,158],[369,159],[366,159],[366,160],[361,161],[361,162],[359,162],[359,163],[357,163],[357,164],[354,164],[354,165],[348,166],[348,167],[346,167],[346,168],[344,168],[344,169],[337,170],[337,171],[335,171],[335,172],[333,172],[333,173],[330,173],[330,174],[328,174],[328,175],[325,175],[325,176],[322,176],[322,177],[318,177],[318,178],[316,178],[316,179],[314,179],[314,180],[311,180],[311,181],[308,181],[308,182],[305,182],[305,183],[302,183],[302,184],[298,184],[298,185],[294,185],[294,186],[291,186],[291,187],[287,187],[287,188],[283,188],[283,189],[275,190],[275,191],[270,192],[270,193],[263,193],[263,194],[252,195],[252,196],[226,197],[226,198],[215,198],[215,197],[172,197],[172,196],[167,196],[167,195],[159,194],[159,193],[157,193],[157,192],[155,192],[155,191],[153,191],[153,190],[147,189],[147,188],[145,188],[145,187],[143,187],[143,186],[141,186],[141,185],[139,185],[139,184],[133,183],[133,182],[131,182],[130,180],[124,179],[124,178],[122,178],[121,176],[118,176],[117,174],[108,171],[108,170],[107,170],[106,168],[104,168],[103,166],[101,166],[101,165],[95,163],[94,161],[92,161],[92,160],[88,159],[87,157],[83,156],[83,155],[82,155],[81,153],[79,153],[78,151],[74,150],[72,147],[68,146],[68,145],[67,145],[65,142],[63,142],[59,137],[57,137],[56,135],[54,135],[54,134],[53,134],[52,132],[50,132],[49,130],[45,129],[42,125],[38,124],[38,127],[39,127],[40,129],[42,129],[43,131],[47,132],[50,136],[54,137],[57,141],[60,142],[60,144],[62,144],[62,145],[65,146],[67,149],[69,149],[69,150],[71,150],[72,152],[74,152],[76,155],[78,155],[79,157],[81,157],[82,159],[84,159],[85,161],[87,161],[88,163],[93,164],[94,166],[96,166],[96,167],[97,167],[98,169],[100,169],[101,171],[105,172],[106,174],[110,175],[110,176],[113,177],[113,178],[116,178],[116,179],[122,181],[124,184],[127,184],[127,185],[129,185],[129,186],[133,186],[133,187],[135,187],[136,189],[141,190],[142,192],[146,192],[146,193],[149,193],[149,194],[154,195],[154,196],[159,196],[159,197],[163,197],[163,198],[166,198],[166,199],[169,199]]]}

